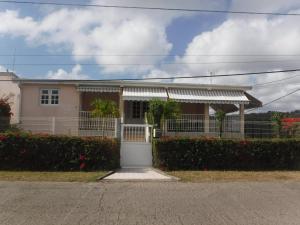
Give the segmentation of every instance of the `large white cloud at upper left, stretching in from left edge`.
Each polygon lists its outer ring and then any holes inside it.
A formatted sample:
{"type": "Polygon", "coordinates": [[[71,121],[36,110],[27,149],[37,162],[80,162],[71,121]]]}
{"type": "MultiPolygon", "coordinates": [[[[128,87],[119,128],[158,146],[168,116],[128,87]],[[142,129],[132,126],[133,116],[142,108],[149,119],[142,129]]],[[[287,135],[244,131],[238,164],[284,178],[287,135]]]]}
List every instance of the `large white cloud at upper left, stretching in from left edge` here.
{"type": "MultiPolygon", "coordinates": [[[[92,3],[99,4],[98,1],[92,3]]],[[[101,4],[145,5],[137,0],[102,1],[101,4]]],[[[181,0],[151,1],[147,6],[172,6],[191,8],[215,8],[225,4],[225,0],[181,0]]],[[[161,57],[110,56],[114,54],[159,54],[167,55],[172,49],[168,41],[166,27],[175,18],[192,16],[193,13],[160,12],[149,10],[121,10],[112,8],[62,8],[44,11],[41,19],[22,17],[16,11],[0,12],[0,35],[24,36],[30,44],[45,44],[51,47],[68,48],[74,59],[82,62],[95,60],[104,72],[148,71],[164,59],[161,57]],[[76,55],[97,55],[76,56],[76,55]],[[103,56],[106,55],[106,56],[103,56]],[[149,66],[111,64],[149,64],[149,66]]],[[[52,48],[53,49],[53,48],[52,48]]]]}

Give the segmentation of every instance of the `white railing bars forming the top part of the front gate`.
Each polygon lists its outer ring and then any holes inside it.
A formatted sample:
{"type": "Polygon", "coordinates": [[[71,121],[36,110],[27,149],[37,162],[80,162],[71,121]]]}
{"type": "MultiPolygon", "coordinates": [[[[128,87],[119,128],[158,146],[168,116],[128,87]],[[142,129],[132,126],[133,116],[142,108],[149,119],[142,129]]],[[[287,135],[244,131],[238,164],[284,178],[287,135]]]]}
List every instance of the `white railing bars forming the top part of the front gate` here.
{"type": "Polygon", "coordinates": [[[122,124],[121,141],[150,143],[152,126],[148,124],[122,124]]]}

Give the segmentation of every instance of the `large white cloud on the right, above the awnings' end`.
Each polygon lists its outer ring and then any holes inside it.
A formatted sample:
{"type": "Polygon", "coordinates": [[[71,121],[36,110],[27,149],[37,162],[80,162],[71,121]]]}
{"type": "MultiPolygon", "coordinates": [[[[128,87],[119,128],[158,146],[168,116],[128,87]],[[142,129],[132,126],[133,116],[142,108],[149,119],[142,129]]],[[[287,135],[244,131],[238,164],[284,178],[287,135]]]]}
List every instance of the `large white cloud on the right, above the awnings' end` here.
{"type": "MultiPolygon", "coordinates": [[[[279,1],[282,3],[282,1],[279,1]]],[[[283,6],[282,6],[283,7],[283,6]]],[[[275,9],[282,9],[280,5],[275,9]]],[[[263,10],[263,9],[262,9],[263,10]]],[[[294,12],[300,12],[300,10],[294,12]]],[[[177,72],[182,75],[208,75],[241,73],[251,71],[271,71],[280,69],[299,68],[299,58],[295,57],[246,57],[220,56],[222,54],[300,54],[300,27],[297,17],[230,17],[212,31],[204,32],[192,40],[186,48],[183,57],[177,57],[176,62],[183,63],[177,66],[177,72]],[[210,56],[195,56],[195,55],[210,56]],[[211,56],[219,55],[219,56],[211,56]],[[281,61],[280,61],[281,60],[281,61]],[[228,62],[265,61],[262,63],[228,63],[228,62]],[[269,61],[269,62],[268,62],[269,61]],[[271,62],[270,62],[271,61],[271,62]],[[218,63],[215,63],[218,62],[218,63]],[[225,63],[223,63],[225,62],[225,63]],[[227,63],[226,63],[227,62],[227,63]]],[[[174,72],[169,68],[162,70],[160,75],[172,76],[174,72]]],[[[225,85],[251,85],[269,82],[294,76],[295,73],[261,74],[256,76],[237,76],[214,78],[212,83],[225,85]]],[[[148,76],[156,76],[150,73],[148,76]]],[[[180,79],[175,82],[210,83],[208,79],[180,79]]],[[[286,80],[279,85],[266,85],[254,89],[251,93],[263,101],[269,102],[300,87],[299,78],[286,80]]],[[[299,93],[282,99],[264,110],[294,110],[299,109],[299,93]]]]}

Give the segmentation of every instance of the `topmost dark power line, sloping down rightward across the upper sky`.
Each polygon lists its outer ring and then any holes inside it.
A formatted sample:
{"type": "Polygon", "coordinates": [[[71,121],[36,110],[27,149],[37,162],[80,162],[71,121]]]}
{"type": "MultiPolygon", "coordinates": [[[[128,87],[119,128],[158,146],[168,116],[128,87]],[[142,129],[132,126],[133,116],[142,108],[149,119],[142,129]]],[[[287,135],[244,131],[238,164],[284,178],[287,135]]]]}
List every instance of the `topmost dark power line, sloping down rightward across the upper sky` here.
{"type": "Polygon", "coordinates": [[[167,8],[167,7],[146,7],[146,6],[126,6],[126,5],[102,5],[102,4],[79,4],[79,3],[58,3],[58,2],[37,2],[37,1],[3,1],[0,3],[30,4],[30,5],[54,5],[70,7],[96,7],[96,8],[117,8],[117,9],[137,9],[155,11],[182,11],[199,13],[230,13],[245,15],[273,15],[273,16],[300,16],[299,13],[276,13],[276,12],[256,12],[256,11],[233,11],[233,10],[213,10],[213,9],[190,9],[190,8],[167,8]]]}

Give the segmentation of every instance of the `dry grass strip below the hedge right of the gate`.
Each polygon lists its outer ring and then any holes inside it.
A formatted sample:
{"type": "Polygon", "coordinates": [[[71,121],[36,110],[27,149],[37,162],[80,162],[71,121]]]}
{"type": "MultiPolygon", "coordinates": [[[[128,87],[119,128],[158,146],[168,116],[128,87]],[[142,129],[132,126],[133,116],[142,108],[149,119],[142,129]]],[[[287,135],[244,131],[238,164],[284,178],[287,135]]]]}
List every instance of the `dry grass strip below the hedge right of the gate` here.
{"type": "Polygon", "coordinates": [[[300,181],[300,171],[170,171],[185,182],[216,181],[300,181]]]}

